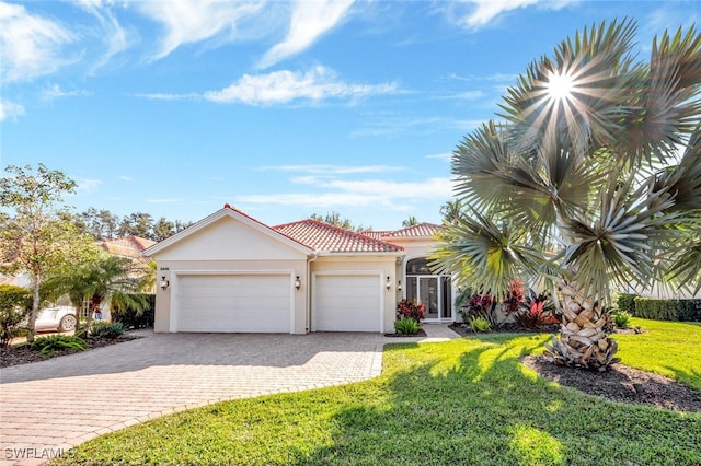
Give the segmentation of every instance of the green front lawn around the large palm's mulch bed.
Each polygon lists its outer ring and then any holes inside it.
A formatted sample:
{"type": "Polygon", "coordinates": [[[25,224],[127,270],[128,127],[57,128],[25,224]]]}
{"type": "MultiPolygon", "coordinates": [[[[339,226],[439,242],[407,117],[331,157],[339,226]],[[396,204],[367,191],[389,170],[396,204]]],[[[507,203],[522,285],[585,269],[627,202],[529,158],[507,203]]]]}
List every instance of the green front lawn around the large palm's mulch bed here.
{"type": "MultiPolygon", "coordinates": [[[[660,364],[701,387],[700,326],[635,325],[650,333],[619,336],[624,362],[660,364]],[[677,335],[673,342],[683,349],[666,351],[669,342],[658,334],[677,335]]],[[[590,397],[548,383],[518,362],[549,338],[391,345],[375,380],[163,417],[95,439],[58,463],[701,464],[701,413],[590,397]]]]}

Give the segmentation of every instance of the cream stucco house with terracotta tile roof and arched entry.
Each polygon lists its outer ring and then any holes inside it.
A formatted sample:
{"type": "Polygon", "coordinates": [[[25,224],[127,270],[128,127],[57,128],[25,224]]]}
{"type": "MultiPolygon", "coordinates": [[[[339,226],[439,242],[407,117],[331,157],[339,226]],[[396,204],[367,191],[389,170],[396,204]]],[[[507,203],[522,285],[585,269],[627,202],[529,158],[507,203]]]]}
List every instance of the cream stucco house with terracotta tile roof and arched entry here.
{"type": "Polygon", "coordinates": [[[268,226],[227,205],[143,252],[158,264],[156,331],[393,333],[404,298],[453,322],[450,277],[426,265],[440,229],[268,226]]]}

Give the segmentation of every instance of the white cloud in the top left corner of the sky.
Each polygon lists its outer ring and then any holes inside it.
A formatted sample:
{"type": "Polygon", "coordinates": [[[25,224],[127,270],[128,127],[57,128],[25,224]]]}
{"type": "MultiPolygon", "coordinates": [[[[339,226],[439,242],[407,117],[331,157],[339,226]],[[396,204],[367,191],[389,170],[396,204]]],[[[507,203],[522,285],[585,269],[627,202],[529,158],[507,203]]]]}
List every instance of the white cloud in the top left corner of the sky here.
{"type": "Polygon", "coordinates": [[[56,71],[71,61],[61,47],[74,39],[59,23],[0,2],[0,81],[28,81],[56,71]]]}

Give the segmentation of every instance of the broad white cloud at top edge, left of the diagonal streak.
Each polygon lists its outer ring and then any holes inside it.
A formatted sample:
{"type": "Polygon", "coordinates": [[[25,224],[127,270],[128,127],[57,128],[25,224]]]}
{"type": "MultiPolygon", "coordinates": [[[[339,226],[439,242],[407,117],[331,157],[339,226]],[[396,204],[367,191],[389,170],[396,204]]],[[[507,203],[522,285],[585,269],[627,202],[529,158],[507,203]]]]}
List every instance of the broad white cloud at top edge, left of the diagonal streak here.
{"type": "Polygon", "coordinates": [[[219,0],[138,1],[134,5],[163,24],[165,36],[153,59],[161,59],[184,44],[219,38],[235,40],[240,23],[258,13],[264,2],[219,0]]]}

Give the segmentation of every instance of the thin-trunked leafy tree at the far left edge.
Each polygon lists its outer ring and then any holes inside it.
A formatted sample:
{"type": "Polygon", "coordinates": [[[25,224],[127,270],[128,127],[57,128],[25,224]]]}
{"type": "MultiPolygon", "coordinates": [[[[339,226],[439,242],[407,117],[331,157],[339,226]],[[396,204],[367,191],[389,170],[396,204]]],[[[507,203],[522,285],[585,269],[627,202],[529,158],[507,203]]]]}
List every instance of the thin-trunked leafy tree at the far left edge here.
{"type": "Polygon", "coordinates": [[[24,272],[32,282],[27,339],[33,341],[44,280],[80,255],[90,241],[60,215],[62,195],[73,191],[73,180],[43,164],[36,171],[10,165],[5,173],[0,178],[0,206],[10,212],[0,217],[0,264],[8,264],[7,273],[24,272]]]}

